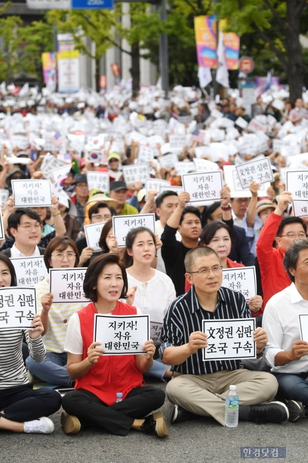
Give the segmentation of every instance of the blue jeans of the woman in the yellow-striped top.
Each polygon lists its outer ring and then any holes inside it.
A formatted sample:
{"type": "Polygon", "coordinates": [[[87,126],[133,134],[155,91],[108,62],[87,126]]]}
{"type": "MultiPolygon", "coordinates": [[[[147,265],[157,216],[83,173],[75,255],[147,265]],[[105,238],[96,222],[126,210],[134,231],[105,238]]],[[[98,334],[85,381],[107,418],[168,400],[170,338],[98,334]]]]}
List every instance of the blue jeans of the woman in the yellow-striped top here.
{"type": "Polygon", "coordinates": [[[46,353],[46,358],[42,362],[35,362],[31,357],[27,357],[25,361],[26,367],[30,373],[37,376],[42,381],[57,386],[64,386],[65,388],[71,388],[72,380],[68,376],[66,363],[66,352],[56,354],[48,351],[46,353]]]}

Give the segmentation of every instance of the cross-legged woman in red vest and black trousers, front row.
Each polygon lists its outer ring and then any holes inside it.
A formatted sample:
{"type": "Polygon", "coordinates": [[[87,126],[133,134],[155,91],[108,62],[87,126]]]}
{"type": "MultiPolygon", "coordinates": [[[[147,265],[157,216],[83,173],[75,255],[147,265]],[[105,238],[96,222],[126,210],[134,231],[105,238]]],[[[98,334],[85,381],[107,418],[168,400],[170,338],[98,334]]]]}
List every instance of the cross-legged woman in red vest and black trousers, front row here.
{"type": "Polygon", "coordinates": [[[143,386],[142,373],[153,365],[154,342],[144,343],[144,354],[105,355],[102,342],[93,342],[95,314],[136,315],[137,310],[118,299],[125,297],[128,282],[118,254],[102,254],[89,264],[84,292],[92,302],[74,314],[68,323],[65,350],[67,370],[75,390],[66,393],[61,423],[66,434],[76,434],[81,426],[92,424],[101,431],[126,436],[130,429],[168,435],[161,412],[165,393],[143,386]],[[114,403],[116,394],[123,400],[114,403]]]}

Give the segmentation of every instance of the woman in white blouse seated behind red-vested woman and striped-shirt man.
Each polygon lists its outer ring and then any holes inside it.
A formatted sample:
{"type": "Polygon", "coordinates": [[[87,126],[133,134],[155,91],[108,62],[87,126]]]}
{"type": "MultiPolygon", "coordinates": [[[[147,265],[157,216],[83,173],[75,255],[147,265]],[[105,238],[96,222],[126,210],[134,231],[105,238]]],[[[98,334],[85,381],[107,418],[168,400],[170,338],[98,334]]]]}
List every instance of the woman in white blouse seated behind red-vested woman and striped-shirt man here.
{"type": "MultiPolygon", "coordinates": [[[[125,263],[129,287],[136,288],[133,304],[143,314],[149,314],[151,322],[161,323],[176,298],[176,290],[168,275],[151,267],[157,252],[157,238],[149,228],[132,228],[126,236],[125,263]]],[[[160,379],[172,376],[170,366],[160,359],[154,360],[144,374],[160,379]]]]}

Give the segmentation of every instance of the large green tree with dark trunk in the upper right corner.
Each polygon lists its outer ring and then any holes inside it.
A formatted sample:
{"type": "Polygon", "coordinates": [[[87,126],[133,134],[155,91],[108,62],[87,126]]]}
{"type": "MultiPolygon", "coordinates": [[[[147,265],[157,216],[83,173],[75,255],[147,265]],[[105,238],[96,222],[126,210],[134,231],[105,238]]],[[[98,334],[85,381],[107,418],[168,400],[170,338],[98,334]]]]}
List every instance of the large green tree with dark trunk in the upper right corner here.
{"type": "Polygon", "coordinates": [[[254,35],[274,54],[286,74],[290,99],[301,97],[307,67],[299,36],[307,33],[307,0],[220,0],[216,11],[227,20],[228,30],[246,39],[254,35]]]}

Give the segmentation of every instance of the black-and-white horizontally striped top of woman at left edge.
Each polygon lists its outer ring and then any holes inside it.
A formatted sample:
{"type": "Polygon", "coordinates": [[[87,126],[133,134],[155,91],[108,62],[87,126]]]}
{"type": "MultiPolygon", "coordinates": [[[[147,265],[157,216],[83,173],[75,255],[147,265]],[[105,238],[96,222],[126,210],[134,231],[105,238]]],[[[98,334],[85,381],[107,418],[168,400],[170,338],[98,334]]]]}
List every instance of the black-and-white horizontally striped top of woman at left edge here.
{"type": "Polygon", "coordinates": [[[22,341],[25,337],[29,354],[36,362],[44,360],[46,351],[42,337],[31,339],[28,330],[0,330],[0,390],[28,384],[22,359],[22,341]]]}

